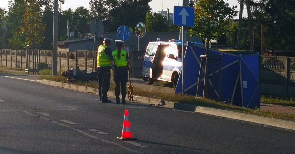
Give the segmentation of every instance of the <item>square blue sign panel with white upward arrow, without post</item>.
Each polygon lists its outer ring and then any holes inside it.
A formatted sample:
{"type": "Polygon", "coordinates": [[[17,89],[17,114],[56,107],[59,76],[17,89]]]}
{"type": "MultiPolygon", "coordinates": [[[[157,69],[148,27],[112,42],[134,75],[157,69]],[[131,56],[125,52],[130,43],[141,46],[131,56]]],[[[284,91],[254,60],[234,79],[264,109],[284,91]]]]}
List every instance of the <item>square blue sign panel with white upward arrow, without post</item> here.
{"type": "Polygon", "coordinates": [[[195,25],[195,11],[193,7],[174,6],[173,24],[193,27],[195,25]]]}

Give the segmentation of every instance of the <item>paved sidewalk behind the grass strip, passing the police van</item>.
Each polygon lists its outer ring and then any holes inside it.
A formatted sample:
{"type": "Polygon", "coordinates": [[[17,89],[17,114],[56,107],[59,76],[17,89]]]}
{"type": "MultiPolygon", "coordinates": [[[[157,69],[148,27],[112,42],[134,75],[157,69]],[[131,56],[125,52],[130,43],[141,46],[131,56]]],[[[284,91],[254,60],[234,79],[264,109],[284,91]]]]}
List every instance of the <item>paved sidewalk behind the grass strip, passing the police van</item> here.
{"type": "MultiPolygon", "coordinates": [[[[30,79],[30,80],[39,80],[41,75],[11,75],[11,74],[0,74],[0,76],[10,76],[14,78],[20,79],[30,79]]],[[[173,88],[158,86],[158,85],[146,85],[142,79],[132,79],[134,87],[140,87],[147,90],[158,90],[164,91],[167,93],[174,93],[173,88]]],[[[274,105],[274,104],[264,104],[261,103],[261,110],[262,111],[269,111],[275,113],[283,113],[283,114],[294,114],[295,115],[295,107],[289,106],[281,106],[281,105],[274,105]]]]}

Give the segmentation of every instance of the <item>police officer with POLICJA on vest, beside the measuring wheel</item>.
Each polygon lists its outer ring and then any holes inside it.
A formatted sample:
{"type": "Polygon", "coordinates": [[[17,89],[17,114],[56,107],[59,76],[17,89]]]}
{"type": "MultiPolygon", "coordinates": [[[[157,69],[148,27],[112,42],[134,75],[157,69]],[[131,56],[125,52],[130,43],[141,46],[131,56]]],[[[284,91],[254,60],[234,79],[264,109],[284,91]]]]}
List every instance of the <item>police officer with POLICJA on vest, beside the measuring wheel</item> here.
{"type": "Polygon", "coordinates": [[[125,50],[122,50],[124,41],[116,40],[117,50],[112,52],[113,60],[112,63],[115,62],[113,75],[114,81],[116,83],[115,87],[115,95],[116,95],[116,103],[120,103],[120,87],[122,89],[122,104],[126,104],[125,97],[126,97],[126,84],[128,82],[128,66],[129,69],[131,68],[131,61],[129,56],[125,50]]]}

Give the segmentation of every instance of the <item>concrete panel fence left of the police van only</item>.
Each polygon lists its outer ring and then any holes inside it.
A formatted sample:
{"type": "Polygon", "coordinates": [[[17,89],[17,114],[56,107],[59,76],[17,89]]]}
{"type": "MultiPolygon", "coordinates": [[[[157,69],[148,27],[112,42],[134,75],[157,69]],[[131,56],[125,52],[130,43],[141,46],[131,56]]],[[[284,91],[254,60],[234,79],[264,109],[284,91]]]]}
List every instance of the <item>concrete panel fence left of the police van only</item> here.
{"type": "MultiPolygon", "coordinates": [[[[39,63],[44,62],[49,67],[52,66],[52,51],[51,50],[37,50],[34,53],[30,51],[16,51],[10,49],[1,49],[0,61],[1,66],[6,67],[21,67],[33,68],[33,61],[38,66],[39,63]],[[33,58],[34,57],[34,58],[33,58]]],[[[131,71],[132,77],[142,77],[142,64],[145,52],[134,51],[130,54],[133,68],[131,71]]],[[[94,66],[97,65],[97,52],[94,54],[94,66]]],[[[76,50],[75,52],[61,52],[57,53],[57,70],[65,71],[71,68],[79,68],[80,70],[92,71],[93,66],[93,51],[76,50]]],[[[95,68],[95,67],[94,67],[95,68]]]]}

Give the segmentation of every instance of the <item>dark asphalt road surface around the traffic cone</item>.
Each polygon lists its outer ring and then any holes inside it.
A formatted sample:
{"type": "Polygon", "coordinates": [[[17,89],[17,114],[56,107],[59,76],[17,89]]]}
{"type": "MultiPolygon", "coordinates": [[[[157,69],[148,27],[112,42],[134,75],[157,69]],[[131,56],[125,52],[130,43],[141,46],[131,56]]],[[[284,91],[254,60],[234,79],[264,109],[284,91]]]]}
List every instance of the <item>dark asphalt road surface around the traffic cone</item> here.
{"type": "Polygon", "coordinates": [[[140,103],[117,105],[98,100],[97,95],[0,77],[0,153],[295,151],[294,131],[140,103]],[[138,138],[132,142],[116,139],[125,109],[138,138]]]}

